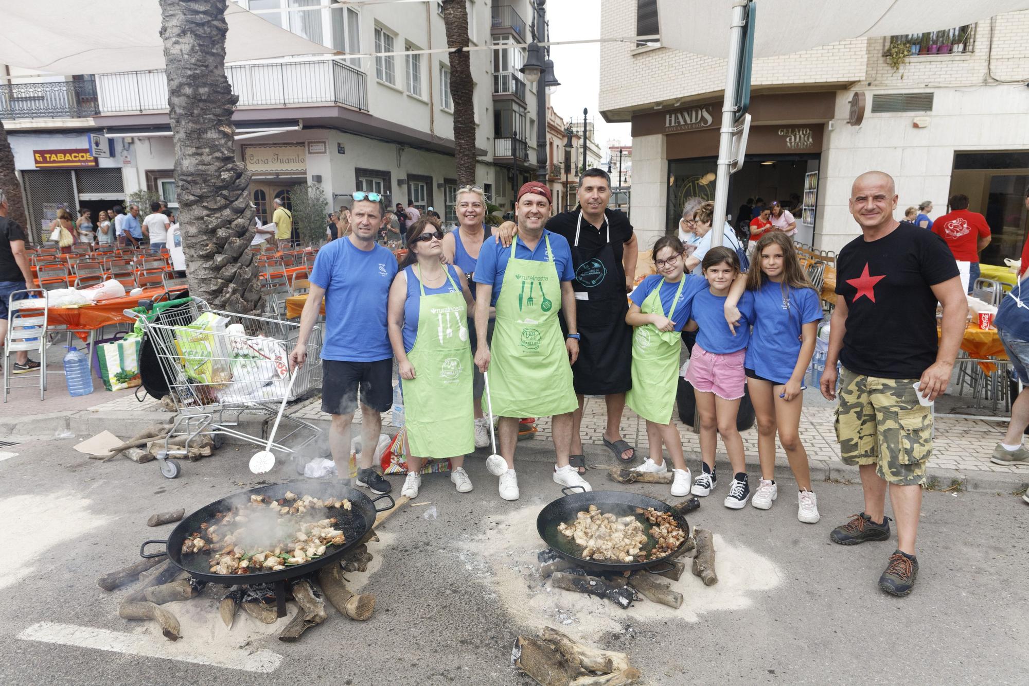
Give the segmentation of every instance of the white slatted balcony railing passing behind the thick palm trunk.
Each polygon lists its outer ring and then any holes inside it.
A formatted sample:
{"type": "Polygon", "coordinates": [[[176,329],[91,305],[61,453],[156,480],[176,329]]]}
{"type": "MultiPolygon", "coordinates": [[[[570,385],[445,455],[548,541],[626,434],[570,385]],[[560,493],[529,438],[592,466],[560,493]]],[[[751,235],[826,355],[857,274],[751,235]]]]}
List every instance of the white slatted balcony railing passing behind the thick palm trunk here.
{"type": "MultiPolygon", "coordinates": [[[[274,62],[225,67],[238,106],[336,103],[367,111],[364,72],[341,60],[274,62]]],[[[102,112],[146,112],[168,109],[164,70],[98,74],[102,112]]]]}

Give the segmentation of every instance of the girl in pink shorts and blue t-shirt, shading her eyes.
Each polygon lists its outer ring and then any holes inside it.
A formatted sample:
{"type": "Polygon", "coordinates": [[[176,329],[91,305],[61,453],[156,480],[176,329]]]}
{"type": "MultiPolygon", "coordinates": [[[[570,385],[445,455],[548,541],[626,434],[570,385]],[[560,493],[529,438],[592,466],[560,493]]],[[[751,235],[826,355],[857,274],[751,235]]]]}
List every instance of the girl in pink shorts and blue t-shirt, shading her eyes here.
{"type": "Polygon", "coordinates": [[[740,274],[740,260],[734,250],[714,247],[701,263],[708,288],[694,297],[693,320],[700,327],[697,344],[689,357],[686,381],[694,385],[697,413],[700,418],[701,474],[694,480],[694,495],[708,495],[717,478],[714,453],[718,435],[729,454],[733,481],[725,496],[725,507],[743,508],[750,499],[746,465],[743,459],[743,439],[736,428],[736,413],[743,398],[744,358],[750,341],[754,297],[746,291],[737,308],[740,321],[736,333],[725,322],[725,298],[733,281],[740,274]]]}

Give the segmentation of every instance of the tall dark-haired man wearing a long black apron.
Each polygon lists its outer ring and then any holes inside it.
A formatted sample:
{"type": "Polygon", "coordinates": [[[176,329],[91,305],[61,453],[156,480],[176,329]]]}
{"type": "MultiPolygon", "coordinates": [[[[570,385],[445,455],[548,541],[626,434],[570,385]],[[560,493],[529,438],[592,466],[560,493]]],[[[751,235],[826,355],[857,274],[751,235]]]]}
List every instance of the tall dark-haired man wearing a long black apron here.
{"type": "MultiPolygon", "coordinates": [[[[579,407],[573,414],[571,464],[584,468],[579,426],[582,397],[603,396],[607,405],[607,428],[603,441],[615,456],[629,461],[635,448],[622,439],[618,425],[632,387],[632,327],[626,323],[636,277],[637,244],[633,227],[624,212],[607,209],[611,177],[601,169],[590,169],[579,178],[579,206],[551,217],[546,228],[568,239],[575,269],[579,357],[572,366],[579,407]]],[[[562,329],[565,321],[561,319],[562,329]]]]}

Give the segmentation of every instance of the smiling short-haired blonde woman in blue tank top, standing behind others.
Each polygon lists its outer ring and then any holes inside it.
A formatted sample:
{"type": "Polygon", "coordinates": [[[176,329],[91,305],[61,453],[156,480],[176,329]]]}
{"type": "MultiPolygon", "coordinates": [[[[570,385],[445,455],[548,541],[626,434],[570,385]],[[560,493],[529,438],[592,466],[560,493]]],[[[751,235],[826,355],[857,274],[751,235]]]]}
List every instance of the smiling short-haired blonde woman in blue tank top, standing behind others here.
{"type": "MultiPolygon", "coordinates": [[[[468,282],[473,281],[475,266],[478,263],[478,251],[483,243],[490,235],[483,221],[486,219],[486,196],[477,185],[465,185],[458,190],[455,202],[457,210],[458,228],[457,231],[443,236],[443,262],[449,265],[460,267],[468,276],[468,282]]],[[[475,288],[471,289],[472,298],[475,296],[475,288]]],[[[492,309],[492,308],[491,308],[492,309]]],[[[470,314],[471,310],[469,310],[470,314]]],[[[475,336],[475,325],[472,317],[468,318],[468,331],[471,334],[471,349],[474,350],[478,344],[475,336]]],[[[493,341],[493,313],[490,313],[490,325],[487,330],[487,341],[493,341]]],[[[490,444],[489,419],[483,416],[483,391],[486,384],[483,373],[475,368],[472,392],[475,398],[475,447],[485,448],[490,444]]]]}

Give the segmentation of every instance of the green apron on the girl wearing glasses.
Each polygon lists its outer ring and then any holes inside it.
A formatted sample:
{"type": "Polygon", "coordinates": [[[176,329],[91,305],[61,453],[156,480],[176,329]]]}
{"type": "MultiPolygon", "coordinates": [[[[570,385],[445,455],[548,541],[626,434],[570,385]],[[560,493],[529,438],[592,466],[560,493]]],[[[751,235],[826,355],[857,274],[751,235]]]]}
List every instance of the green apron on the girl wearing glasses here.
{"type": "MultiPolygon", "coordinates": [[[[672,312],[679,304],[682,286],[686,275],[679,281],[679,289],[675,291],[672,301],[672,312]]],[[[665,314],[661,303],[661,287],[658,287],[643,300],[640,312],[643,314],[665,314]]],[[[678,322],[676,322],[678,323],[678,322]]],[[[667,424],[672,421],[672,406],[675,405],[675,393],[679,386],[679,351],[681,336],[677,331],[659,331],[653,324],[636,327],[633,332],[633,387],[626,393],[626,405],[636,414],[655,424],[667,424]]]]}

